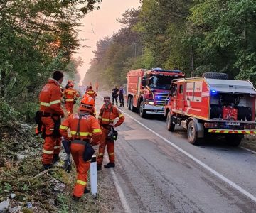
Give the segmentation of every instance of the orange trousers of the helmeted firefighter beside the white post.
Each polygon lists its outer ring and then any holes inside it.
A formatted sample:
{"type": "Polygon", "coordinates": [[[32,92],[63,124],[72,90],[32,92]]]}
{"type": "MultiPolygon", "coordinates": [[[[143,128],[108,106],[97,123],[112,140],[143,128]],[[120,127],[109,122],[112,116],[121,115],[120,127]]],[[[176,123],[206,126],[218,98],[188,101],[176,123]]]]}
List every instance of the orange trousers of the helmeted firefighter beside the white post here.
{"type": "Polygon", "coordinates": [[[85,145],[78,143],[71,143],[71,155],[75,162],[77,170],[77,180],[75,182],[75,188],[73,195],[75,197],[82,197],[87,185],[87,172],[90,169],[90,161],[84,161],[82,154],[85,151],[85,145]]]}

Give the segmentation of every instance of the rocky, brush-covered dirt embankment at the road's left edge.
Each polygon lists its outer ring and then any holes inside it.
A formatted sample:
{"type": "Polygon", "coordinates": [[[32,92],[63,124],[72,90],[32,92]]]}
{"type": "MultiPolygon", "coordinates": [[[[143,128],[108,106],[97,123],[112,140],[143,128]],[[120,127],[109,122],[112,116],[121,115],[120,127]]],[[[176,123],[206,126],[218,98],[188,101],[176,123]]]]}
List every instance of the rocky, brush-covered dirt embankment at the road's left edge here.
{"type": "MultiPolygon", "coordinates": [[[[65,153],[61,153],[60,163],[43,171],[42,147],[43,140],[34,135],[34,126],[1,128],[0,212],[112,212],[110,200],[116,195],[107,173],[98,175],[96,199],[86,194],[76,202],[72,199],[75,165],[71,173],[66,173],[65,153]]],[[[90,174],[88,179],[90,182],[90,174]]]]}

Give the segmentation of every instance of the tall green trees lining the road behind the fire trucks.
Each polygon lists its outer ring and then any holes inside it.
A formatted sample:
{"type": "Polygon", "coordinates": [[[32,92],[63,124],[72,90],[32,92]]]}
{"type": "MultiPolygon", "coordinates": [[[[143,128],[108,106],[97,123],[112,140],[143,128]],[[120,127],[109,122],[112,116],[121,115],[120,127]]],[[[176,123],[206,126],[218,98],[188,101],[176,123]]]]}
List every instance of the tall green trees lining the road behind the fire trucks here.
{"type": "Polygon", "coordinates": [[[255,10],[253,0],[144,0],[117,19],[117,33],[98,41],[84,82],[112,88],[126,83],[129,70],[161,67],[187,77],[225,72],[256,84],[255,10]]]}

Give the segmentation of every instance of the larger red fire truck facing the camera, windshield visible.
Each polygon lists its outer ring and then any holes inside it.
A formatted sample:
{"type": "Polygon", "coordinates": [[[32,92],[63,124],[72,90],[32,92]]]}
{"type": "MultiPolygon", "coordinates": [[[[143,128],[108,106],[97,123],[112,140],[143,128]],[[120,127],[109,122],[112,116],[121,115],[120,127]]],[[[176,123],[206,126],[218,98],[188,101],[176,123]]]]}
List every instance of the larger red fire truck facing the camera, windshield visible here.
{"type": "Polygon", "coordinates": [[[169,100],[171,80],[185,77],[179,70],[130,70],[127,74],[128,109],[146,117],[147,114],[164,115],[164,104],[169,100]]]}

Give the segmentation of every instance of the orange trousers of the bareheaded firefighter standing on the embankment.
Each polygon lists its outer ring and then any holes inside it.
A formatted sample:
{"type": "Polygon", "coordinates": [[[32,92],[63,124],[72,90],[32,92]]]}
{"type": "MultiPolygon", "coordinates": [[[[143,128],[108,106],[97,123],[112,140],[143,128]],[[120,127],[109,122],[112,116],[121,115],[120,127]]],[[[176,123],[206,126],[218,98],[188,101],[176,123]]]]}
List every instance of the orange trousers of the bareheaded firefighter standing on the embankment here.
{"type": "Polygon", "coordinates": [[[46,127],[46,138],[43,144],[43,164],[53,163],[53,154],[59,154],[61,148],[61,138],[53,137],[54,121],[51,117],[41,117],[43,125],[46,127]]]}

